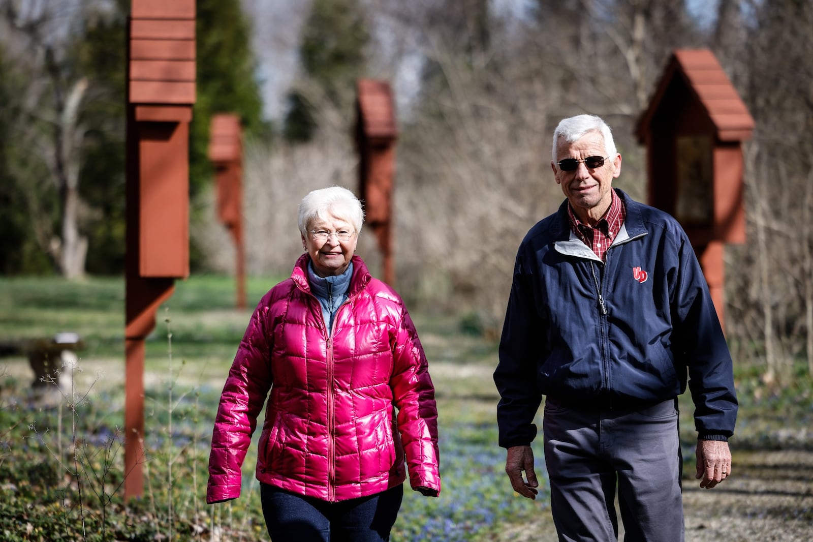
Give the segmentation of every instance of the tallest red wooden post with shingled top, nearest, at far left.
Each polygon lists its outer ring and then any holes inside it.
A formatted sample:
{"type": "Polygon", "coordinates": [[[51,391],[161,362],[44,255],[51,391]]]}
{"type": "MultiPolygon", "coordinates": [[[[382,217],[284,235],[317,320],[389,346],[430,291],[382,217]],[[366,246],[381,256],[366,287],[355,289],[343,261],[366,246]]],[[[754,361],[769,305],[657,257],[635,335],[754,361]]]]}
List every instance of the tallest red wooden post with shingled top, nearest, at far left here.
{"type": "Polygon", "coordinates": [[[124,497],[144,492],[144,339],[189,276],[194,0],[132,0],[128,21],[124,497]]]}

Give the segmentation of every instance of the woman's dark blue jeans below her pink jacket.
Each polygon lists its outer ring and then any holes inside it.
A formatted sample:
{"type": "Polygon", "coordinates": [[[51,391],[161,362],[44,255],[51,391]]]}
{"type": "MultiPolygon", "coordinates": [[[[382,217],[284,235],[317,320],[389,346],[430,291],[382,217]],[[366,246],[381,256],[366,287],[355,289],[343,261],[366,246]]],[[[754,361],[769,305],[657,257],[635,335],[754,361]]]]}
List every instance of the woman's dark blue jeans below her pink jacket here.
{"type": "Polygon", "coordinates": [[[263,516],[273,542],[380,542],[398,517],[402,484],[358,499],[328,502],[260,484],[263,516]]]}

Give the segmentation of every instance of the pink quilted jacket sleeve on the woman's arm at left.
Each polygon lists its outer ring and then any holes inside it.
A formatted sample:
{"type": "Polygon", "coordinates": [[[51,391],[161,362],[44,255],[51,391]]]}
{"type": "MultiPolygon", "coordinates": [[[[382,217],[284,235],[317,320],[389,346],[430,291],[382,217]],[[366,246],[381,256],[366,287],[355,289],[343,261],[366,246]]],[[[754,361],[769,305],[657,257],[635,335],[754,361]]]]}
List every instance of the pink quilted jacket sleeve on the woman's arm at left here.
{"type": "Polygon", "coordinates": [[[270,292],[251,317],[220,396],[209,456],[210,505],[240,496],[243,460],[272,385],[272,339],[266,321],[269,297],[270,292]]]}

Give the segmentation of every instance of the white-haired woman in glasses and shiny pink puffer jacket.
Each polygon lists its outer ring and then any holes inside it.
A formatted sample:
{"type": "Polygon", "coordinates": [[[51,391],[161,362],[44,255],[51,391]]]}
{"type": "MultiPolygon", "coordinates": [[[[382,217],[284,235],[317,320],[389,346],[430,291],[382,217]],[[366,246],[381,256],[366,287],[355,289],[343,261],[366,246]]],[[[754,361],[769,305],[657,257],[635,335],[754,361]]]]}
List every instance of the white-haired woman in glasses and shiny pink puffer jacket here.
{"type": "Polygon", "coordinates": [[[302,199],[305,254],[260,300],[220,398],[210,504],[240,496],[242,462],[271,390],[256,476],[275,542],[389,540],[405,456],[413,489],[441,491],[426,356],[402,299],[354,256],[362,221],[350,190],[302,199]]]}

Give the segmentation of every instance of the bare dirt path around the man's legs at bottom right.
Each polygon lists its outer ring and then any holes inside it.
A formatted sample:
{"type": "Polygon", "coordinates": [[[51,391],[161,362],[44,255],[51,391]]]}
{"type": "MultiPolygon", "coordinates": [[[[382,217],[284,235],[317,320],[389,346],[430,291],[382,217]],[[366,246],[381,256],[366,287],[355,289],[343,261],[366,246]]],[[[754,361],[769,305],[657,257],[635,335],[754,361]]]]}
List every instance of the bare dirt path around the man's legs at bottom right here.
{"type": "MultiPolygon", "coordinates": [[[[687,473],[686,542],[813,540],[813,451],[735,452],[732,470],[730,479],[711,490],[700,489],[693,472],[687,473]]],[[[531,524],[502,531],[498,540],[557,540],[550,511],[531,524]]]]}

